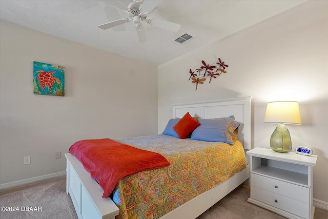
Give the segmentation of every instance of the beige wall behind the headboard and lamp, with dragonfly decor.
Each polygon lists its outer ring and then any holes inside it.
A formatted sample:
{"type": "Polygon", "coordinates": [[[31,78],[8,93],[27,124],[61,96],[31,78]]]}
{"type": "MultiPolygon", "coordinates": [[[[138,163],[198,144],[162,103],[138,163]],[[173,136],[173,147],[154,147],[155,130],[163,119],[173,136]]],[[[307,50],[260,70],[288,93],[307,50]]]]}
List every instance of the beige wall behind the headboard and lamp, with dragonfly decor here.
{"type": "Polygon", "coordinates": [[[299,102],[302,125],[287,126],[294,148],[310,147],[318,155],[314,198],[328,202],[327,1],[306,2],[158,66],[158,133],[172,117],[171,104],[242,96],[253,96],[253,147],[270,148],[276,125],[263,123],[268,102],[299,102]],[[229,65],[227,73],[195,91],[189,69],[219,57],[229,65]]]}

